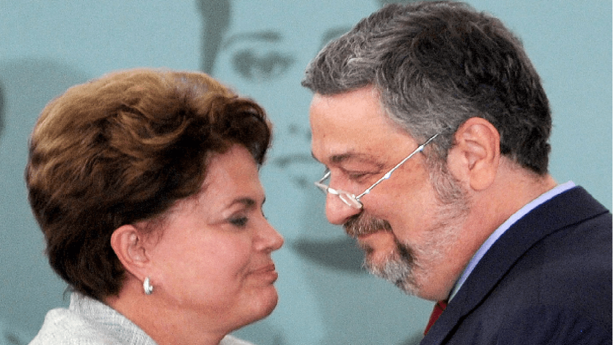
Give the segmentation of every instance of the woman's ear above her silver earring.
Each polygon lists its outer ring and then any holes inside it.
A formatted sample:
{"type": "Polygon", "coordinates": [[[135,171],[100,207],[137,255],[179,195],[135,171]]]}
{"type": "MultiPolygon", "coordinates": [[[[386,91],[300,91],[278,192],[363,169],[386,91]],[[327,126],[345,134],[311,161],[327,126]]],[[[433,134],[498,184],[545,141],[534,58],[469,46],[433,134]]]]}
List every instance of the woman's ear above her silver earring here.
{"type": "Polygon", "coordinates": [[[142,231],[129,224],[116,228],[111,235],[111,247],[126,271],[141,281],[145,279],[150,260],[142,231]]]}

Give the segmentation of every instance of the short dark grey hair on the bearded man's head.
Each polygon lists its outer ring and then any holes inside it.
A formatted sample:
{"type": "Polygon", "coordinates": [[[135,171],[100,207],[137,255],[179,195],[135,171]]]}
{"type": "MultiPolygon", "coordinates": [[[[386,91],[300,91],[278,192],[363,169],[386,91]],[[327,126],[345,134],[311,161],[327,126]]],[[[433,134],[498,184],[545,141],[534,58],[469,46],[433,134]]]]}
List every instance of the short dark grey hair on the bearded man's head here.
{"type": "Polygon", "coordinates": [[[519,39],[467,4],[389,4],[324,47],[302,85],[321,95],[374,87],[413,138],[442,133],[432,145],[440,160],[462,123],[485,118],[503,155],[547,172],[551,114],[541,80],[519,39]]]}

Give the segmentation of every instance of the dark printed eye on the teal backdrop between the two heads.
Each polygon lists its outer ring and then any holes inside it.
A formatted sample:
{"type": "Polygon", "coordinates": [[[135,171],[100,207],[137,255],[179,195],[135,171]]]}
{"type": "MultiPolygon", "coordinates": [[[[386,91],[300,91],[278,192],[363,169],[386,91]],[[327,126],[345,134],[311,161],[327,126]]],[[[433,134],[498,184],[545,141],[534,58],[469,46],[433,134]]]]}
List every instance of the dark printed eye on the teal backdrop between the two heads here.
{"type": "Polygon", "coordinates": [[[232,56],[232,68],[243,78],[262,82],[276,79],[294,63],[294,58],[279,52],[259,53],[253,49],[240,50],[232,56]]]}

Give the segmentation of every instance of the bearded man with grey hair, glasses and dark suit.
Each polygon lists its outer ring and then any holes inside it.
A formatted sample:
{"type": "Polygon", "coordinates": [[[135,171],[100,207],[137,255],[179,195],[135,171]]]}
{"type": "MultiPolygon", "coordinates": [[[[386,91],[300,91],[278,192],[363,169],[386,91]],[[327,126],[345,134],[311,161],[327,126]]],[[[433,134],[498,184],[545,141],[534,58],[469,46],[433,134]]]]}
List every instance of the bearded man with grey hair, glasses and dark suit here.
{"type": "Polygon", "coordinates": [[[500,20],[392,4],[302,85],[328,220],[372,273],[439,301],[422,344],[611,343],[611,212],[550,176],[549,102],[500,20]]]}

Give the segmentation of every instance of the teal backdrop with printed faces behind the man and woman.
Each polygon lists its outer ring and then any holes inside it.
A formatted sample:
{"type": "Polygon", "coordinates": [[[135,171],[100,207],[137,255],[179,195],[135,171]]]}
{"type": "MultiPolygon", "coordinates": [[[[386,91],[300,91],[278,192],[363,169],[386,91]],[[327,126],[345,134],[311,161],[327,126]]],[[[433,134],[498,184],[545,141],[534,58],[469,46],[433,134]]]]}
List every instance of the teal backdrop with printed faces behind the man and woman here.
{"type": "MultiPolygon", "coordinates": [[[[610,209],[611,1],[469,2],[523,39],[543,78],[554,113],[555,179],[583,185],[610,209]]],[[[324,198],[311,187],[322,168],[310,158],[310,93],[299,85],[322,44],[379,5],[1,0],[0,345],[27,343],[48,309],[67,304],[66,285],[48,268],[26,200],[23,167],[32,125],[70,85],[137,66],[211,72],[259,101],[275,123],[262,182],[268,219],[286,238],[274,257],[280,303],[238,335],[261,345],[417,343],[432,303],[364,273],[359,250],[326,222],[324,198]]]]}

